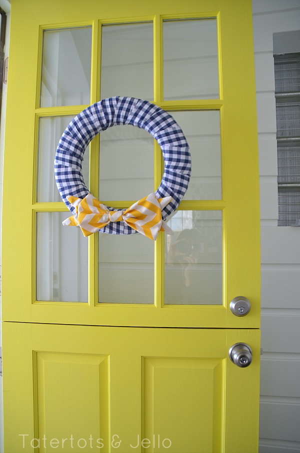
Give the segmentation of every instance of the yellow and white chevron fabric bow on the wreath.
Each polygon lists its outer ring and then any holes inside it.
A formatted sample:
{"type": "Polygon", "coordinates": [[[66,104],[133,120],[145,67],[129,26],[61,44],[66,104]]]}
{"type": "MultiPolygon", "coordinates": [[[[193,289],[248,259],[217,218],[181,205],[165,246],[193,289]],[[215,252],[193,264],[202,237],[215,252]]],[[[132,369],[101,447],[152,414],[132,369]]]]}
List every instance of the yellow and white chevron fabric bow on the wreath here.
{"type": "Polygon", "coordinates": [[[75,214],[63,220],[63,225],[79,225],[84,236],[89,236],[110,222],[124,221],[131,228],[155,240],[159,231],[172,234],[171,228],[162,220],[161,210],[171,201],[171,196],[156,198],[154,193],[141,198],[127,209],[109,210],[91,193],[83,199],[69,196],[75,214]]]}

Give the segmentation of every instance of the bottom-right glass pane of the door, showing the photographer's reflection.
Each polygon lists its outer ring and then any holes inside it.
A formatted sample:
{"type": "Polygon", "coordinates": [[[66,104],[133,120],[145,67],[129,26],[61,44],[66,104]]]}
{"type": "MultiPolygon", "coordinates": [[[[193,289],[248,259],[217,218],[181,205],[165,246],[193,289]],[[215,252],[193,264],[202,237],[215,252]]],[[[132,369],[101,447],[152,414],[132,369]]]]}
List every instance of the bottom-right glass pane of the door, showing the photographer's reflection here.
{"type": "Polygon", "coordinates": [[[222,303],[222,212],[177,211],[165,247],[164,303],[222,303]]]}

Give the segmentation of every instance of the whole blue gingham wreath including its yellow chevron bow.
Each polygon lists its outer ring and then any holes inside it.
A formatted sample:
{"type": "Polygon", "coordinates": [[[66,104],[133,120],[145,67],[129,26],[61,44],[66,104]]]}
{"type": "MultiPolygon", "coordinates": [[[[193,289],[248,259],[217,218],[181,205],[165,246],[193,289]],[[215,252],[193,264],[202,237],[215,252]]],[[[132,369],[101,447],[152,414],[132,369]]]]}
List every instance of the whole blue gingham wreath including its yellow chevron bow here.
{"type": "Polygon", "coordinates": [[[79,225],[84,236],[95,231],[140,232],[155,240],[160,230],[171,233],[164,220],[187,189],[191,161],[186,138],[169,113],[146,100],[116,96],[90,105],[69,123],[58,142],[54,170],[60,196],[73,214],[63,225],[79,225]],[[115,209],[97,200],[86,188],[81,172],[90,140],[117,124],[147,130],[161,147],[164,160],[157,190],[127,209],[115,209]]]}

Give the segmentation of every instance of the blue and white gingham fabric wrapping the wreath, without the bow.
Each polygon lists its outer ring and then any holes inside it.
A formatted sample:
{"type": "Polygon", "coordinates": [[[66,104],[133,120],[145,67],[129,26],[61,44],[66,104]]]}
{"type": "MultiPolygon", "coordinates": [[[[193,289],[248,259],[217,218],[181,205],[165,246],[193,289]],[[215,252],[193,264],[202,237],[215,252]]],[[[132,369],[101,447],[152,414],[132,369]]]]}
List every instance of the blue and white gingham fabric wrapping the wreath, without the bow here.
{"type": "MultiPolygon", "coordinates": [[[[155,196],[172,197],[162,210],[165,220],[177,208],[188,186],[191,171],[189,147],[182,130],[169,113],[135,97],[102,99],[85,108],[69,123],[60,137],[54,160],[55,180],[62,200],[74,214],[75,208],[67,197],[84,198],[90,193],[82,177],[85,148],[97,133],[116,124],[131,124],[147,130],[161,147],[164,172],[155,196]]],[[[99,231],[110,234],[136,232],[123,221],[111,222],[99,231]]]]}

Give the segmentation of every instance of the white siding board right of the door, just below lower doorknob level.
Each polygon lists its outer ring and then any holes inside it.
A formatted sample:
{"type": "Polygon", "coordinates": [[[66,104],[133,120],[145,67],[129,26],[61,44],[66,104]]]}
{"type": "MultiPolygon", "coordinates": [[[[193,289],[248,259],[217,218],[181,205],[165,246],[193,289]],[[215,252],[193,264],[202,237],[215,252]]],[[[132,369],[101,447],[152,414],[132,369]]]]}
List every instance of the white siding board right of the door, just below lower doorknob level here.
{"type": "Polygon", "coordinates": [[[300,396],[300,354],[298,360],[264,359],[260,363],[260,394],[300,396]]]}

